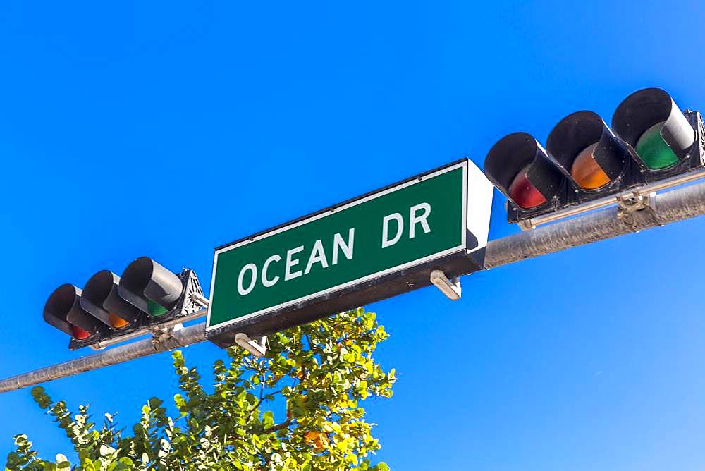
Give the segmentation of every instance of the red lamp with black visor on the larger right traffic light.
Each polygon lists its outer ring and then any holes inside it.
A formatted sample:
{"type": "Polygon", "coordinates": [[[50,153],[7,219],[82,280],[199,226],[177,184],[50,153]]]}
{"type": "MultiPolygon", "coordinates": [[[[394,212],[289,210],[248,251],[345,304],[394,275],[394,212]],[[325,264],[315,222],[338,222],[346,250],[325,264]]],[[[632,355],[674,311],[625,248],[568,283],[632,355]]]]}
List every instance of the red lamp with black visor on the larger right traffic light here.
{"type": "Polygon", "coordinates": [[[517,206],[530,209],[558,195],[564,178],[546,151],[527,133],[498,140],[484,161],[484,173],[517,206]]]}

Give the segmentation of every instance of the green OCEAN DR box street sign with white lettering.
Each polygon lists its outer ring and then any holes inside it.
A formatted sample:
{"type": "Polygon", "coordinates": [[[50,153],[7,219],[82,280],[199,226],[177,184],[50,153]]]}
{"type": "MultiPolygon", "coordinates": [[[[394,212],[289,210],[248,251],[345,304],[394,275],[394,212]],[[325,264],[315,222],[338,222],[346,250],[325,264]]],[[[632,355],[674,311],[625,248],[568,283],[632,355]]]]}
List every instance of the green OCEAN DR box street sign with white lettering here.
{"type": "Polygon", "coordinates": [[[402,280],[415,267],[482,269],[491,195],[463,159],[219,247],[206,331],[276,331],[427,286],[402,280]]]}

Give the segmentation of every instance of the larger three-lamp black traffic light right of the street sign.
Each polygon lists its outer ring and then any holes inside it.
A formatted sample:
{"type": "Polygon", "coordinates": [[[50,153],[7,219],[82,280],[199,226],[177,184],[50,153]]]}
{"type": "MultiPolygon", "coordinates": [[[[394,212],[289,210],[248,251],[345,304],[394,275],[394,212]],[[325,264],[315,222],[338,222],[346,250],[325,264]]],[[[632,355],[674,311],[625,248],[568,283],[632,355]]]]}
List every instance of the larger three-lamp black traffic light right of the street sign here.
{"type": "Polygon", "coordinates": [[[673,177],[699,176],[692,172],[704,167],[700,114],[681,112],[663,90],[631,94],[618,106],[612,125],[614,131],[593,111],[577,111],[553,127],[546,149],[527,133],[496,142],[484,172],[508,199],[508,221],[577,214],[615,202],[606,197],[627,190],[648,189],[655,182],[675,185],[679,181],[673,177]]]}

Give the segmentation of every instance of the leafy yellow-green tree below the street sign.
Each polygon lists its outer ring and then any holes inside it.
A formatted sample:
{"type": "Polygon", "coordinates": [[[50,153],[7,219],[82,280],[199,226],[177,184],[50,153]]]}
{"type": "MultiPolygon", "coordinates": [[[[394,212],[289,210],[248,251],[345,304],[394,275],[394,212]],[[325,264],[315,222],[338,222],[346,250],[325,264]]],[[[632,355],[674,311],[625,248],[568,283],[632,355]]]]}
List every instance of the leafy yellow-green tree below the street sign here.
{"type": "MultiPolygon", "coordinates": [[[[214,364],[212,393],[175,351],[180,416],[168,417],[163,402],[151,398],[131,436],[109,414],[98,428],[87,405],[74,415],[41,386],[32,396],[71,439],[80,460],[73,469],[384,471],[384,463],[370,461],[380,446],[360,401],[392,395],[394,370],[384,372],[372,358],[387,337],[362,308],[288,329],[270,337],[266,357],[228,349],[229,364],[214,364]],[[282,412],[275,414],[277,406],[282,412]]],[[[64,455],[39,458],[26,435],[16,435],[15,445],[7,469],[72,466],[64,455]]]]}

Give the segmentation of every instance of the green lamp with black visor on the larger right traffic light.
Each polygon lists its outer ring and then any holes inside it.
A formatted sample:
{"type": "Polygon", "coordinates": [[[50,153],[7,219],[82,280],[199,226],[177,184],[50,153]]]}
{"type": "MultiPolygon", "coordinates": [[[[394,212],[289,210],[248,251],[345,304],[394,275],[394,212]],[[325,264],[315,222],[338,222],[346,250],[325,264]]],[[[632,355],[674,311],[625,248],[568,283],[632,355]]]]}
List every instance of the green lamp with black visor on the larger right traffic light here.
{"type": "Polygon", "coordinates": [[[630,94],[617,107],[612,127],[651,170],[677,164],[695,141],[695,131],[687,118],[670,94],[660,88],[630,94]]]}

